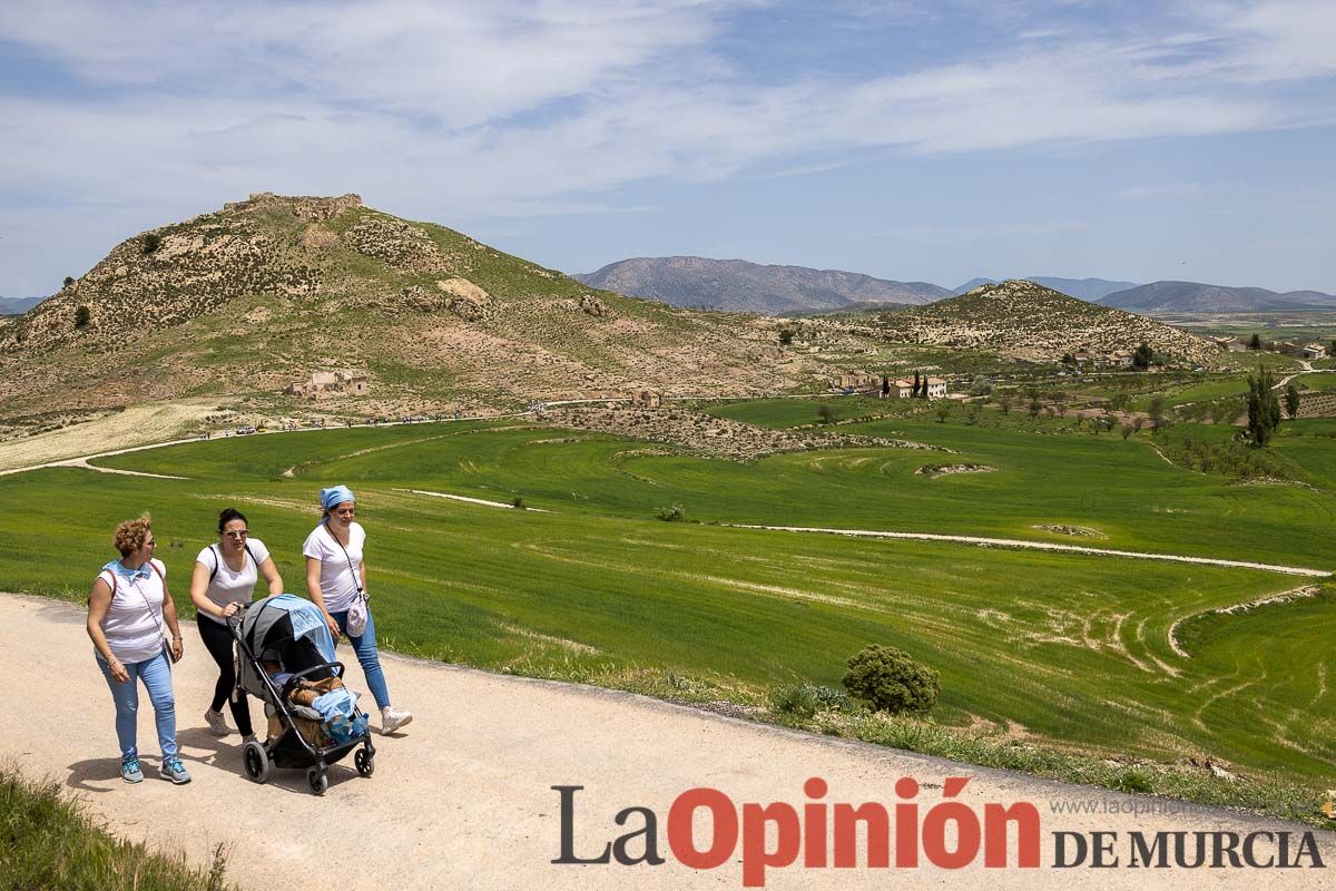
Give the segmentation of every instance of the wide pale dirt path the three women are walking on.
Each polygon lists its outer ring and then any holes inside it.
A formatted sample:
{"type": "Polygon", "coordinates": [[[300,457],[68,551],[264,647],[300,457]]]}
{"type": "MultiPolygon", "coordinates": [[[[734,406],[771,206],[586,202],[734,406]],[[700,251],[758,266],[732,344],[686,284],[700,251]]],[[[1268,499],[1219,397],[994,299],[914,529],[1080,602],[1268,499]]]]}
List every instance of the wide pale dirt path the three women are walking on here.
{"type": "MultiPolygon", "coordinates": [[[[212,688],[212,663],[187,627],[186,659],[175,689],[183,759],[195,780],[172,787],[156,779],[151,711],[140,713],[140,744],[148,779],[126,785],[116,776],[111,697],[94,667],[84,613],[69,604],[0,594],[0,660],[23,695],[0,697],[5,728],[0,757],[29,776],[52,776],[76,789],[108,827],[151,844],[184,847],[206,863],[211,847],[228,844],[228,879],[243,888],[740,888],[737,852],[716,870],[692,871],[672,858],[667,818],[673,799],[713,787],[733,803],[810,799],[803,783],[822,776],[830,803],[892,804],[895,781],[923,784],[923,814],[941,801],[949,776],[971,777],[959,801],[1030,801],[1039,810],[1042,868],[945,871],[775,868],[772,888],[978,887],[1317,888],[1325,870],[1053,870],[1053,832],[1117,831],[1128,859],[1128,832],[1230,830],[1291,831],[1303,827],[1242,818],[1174,801],[1134,799],[953,764],[860,743],[798,733],[676,707],[628,693],[533,681],[389,656],[386,672],[398,704],[417,720],[407,732],[377,737],[377,772],[359,779],[331,768],[325,797],[305,791],[302,775],[278,771],[266,785],[240,775],[235,735],[211,736],[199,715],[212,688]],[[553,785],[582,785],[574,812],[576,852],[591,856],[617,835],[639,828],[613,823],[621,808],[651,808],[659,818],[659,867],[560,866],[560,808],[553,785]],[[1053,803],[1057,803],[1055,806],[1053,803]],[[1082,815],[1054,807],[1085,807],[1082,815]],[[1134,807],[1146,808],[1133,815],[1134,807]],[[1158,812],[1148,812],[1149,808],[1158,812]],[[1112,811],[1112,812],[1108,812],[1112,811]]],[[[346,645],[341,653],[347,657],[346,645]]],[[[354,688],[361,675],[354,668],[354,688]]],[[[17,689],[17,688],[16,688],[17,689]]],[[[255,709],[258,713],[258,709],[255,709]]],[[[708,843],[707,816],[697,818],[697,844],[708,843]]],[[[1089,838],[1089,836],[1088,836],[1089,838]]],[[[1323,858],[1336,863],[1336,838],[1317,834],[1323,858]]],[[[1297,846],[1297,836],[1292,843],[1297,846]]],[[[1260,846],[1260,848],[1267,846],[1260,846]]],[[[632,846],[633,852],[640,848],[632,846]]],[[[1267,850],[1273,850],[1267,847],[1267,850]]],[[[1014,862],[1014,851],[1011,854],[1014,862]]],[[[802,860],[799,860],[800,863],[802,860]]],[[[863,860],[859,860],[863,863],[863,860]]]]}

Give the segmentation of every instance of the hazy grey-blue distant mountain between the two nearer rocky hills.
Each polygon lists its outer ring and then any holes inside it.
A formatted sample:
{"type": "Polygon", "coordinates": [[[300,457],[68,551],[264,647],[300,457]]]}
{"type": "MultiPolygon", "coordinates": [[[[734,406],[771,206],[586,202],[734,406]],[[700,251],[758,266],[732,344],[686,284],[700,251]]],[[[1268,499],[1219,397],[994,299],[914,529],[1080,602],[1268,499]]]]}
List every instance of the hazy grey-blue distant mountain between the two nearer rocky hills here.
{"type": "Polygon", "coordinates": [[[637,256],[609,263],[577,281],[672,306],[762,315],[843,309],[858,302],[921,305],[950,297],[927,282],[891,282],[803,266],[762,266],[701,256],[637,256]]]}

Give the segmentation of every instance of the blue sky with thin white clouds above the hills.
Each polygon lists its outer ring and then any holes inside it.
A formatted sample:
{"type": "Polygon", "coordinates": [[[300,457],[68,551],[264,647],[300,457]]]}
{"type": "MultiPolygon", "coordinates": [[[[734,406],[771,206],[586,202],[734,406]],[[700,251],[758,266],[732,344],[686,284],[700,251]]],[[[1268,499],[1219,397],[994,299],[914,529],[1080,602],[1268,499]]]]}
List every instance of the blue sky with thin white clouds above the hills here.
{"type": "Polygon", "coordinates": [[[1336,293],[1332,0],[5,0],[0,295],[258,191],[566,273],[1336,293]]]}

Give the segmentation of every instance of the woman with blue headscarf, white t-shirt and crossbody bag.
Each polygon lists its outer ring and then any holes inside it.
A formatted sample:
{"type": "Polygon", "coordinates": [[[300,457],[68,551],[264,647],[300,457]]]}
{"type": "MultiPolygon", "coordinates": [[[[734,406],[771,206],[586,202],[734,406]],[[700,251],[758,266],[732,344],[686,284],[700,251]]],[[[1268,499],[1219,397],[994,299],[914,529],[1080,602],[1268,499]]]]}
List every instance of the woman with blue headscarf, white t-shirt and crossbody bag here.
{"type": "Polygon", "coordinates": [[[381,732],[391,733],[413,720],[413,713],[390,705],[385,669],[375,649],[375,624],[366,604],[366,532],[353,517],[357,498],[347,486],[321,489],[321,525],[306,537],[306,592],[325,613],[337,641],[347,635],[366,675],[366,685],[381,709],[381,732]]]}

